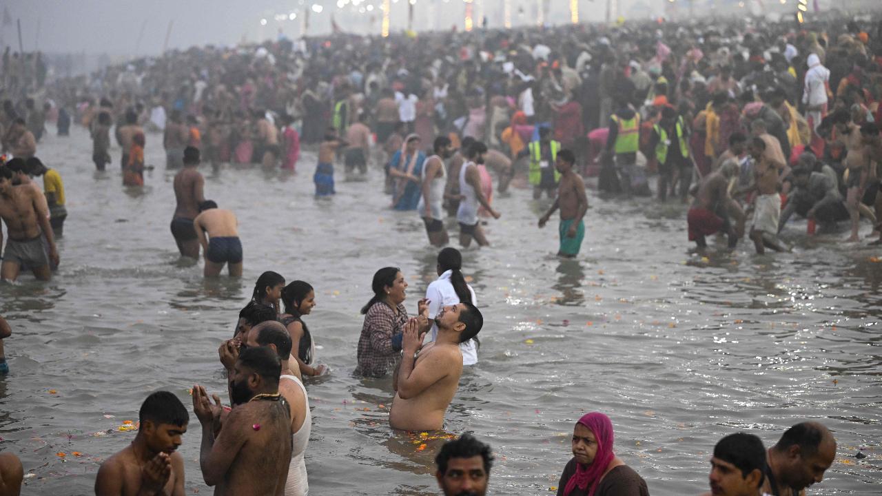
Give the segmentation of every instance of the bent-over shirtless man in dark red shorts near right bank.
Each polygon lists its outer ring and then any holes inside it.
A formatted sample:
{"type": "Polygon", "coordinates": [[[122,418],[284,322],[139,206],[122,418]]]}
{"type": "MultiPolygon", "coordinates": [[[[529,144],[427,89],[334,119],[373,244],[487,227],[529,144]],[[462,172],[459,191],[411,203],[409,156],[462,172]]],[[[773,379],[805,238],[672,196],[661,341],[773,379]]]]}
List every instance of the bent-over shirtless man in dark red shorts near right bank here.
{"type": "Polygon", "coordinates": [[[698,245],[699,253],[703,254],[707,248],[705,237],[715,232],[722,231],[729,237],[729,248],[735,248],[738,237],[744,235],[744,213],[729,196],[729,182],[737,173],[738,166],[729,162],[703,177],[693,187],[695,201],[689,208],[686,222],[689,240],[698,245]],[[729,221],[730,217],[735,217],[735,226],[729,221]]]}

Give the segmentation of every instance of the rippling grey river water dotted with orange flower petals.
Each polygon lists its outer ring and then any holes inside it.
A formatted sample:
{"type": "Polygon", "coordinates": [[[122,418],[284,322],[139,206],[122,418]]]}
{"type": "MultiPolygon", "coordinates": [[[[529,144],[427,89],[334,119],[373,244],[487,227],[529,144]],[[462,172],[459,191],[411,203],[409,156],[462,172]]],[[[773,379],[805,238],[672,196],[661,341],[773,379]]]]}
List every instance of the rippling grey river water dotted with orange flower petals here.
{"type": "MultiPolygon", "coordinates": [[[[241,281],[206,282],[200,266],[179,261],[168,231],[173,174],[161,137],[147,139],[156,169],[143,191],[123,188],[116,164],[94,171],[81,128],[39,146],[64,177],[70,216],[51,282],[0,285],[13,327],[0,449],[24,462],[23,493],[91,493],[101,461],[134,437],[118,428],[137,421],[154,390],[175,392],[188,410],[195,382],[225,397],[216,349],[258,275],[274,270],[316,288],[307,322],[332,369],[307,383],[311,493],[437,494],[442,441],[393,433],[391,380],[352,375],[377,268],[401,267],[410,312],[434,278],[437,251],[416,214],[388,208],[378,169],[361,183],[338,172],[338,194],[314,199],[309,152],[295,176],[203,166],[206,198],[238,215],[245,253],[241,281]]],[[[750,430],[770,444],[804,419],[839,441],[812,493],[882,492],[882,263],[873,261],[882,253],[834,243],[845,233],[808,239],[803,221],[788,230],[794,253],[757,256],[742,242],[700,259],[687,252],[684,207],[588,198],[578,259],[554,256],[556,223],[535,226],[547,200],[522,189],[495,200],[493,246],[464,252],[485,325],[480,364],[463,374],[446,428],[490,442],[491,493],[549,494],[571,457],[572,425],[591,410],[611,417],[617,454],[653,494],[706,491],[723,435],[750,430]]],[[[211,491],[198,449],[191,415],[180,448],[188,493],[211,491]]]]}

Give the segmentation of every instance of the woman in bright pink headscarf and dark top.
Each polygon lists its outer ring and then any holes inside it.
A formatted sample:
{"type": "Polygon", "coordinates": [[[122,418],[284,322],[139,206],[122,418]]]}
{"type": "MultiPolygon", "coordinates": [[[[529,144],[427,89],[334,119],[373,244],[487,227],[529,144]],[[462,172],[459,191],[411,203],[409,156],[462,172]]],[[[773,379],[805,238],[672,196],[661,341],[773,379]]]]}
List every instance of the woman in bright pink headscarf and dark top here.
{"type": "Polygon", "coordinates": [[[609,417],[594,411],[579,418],[557,496],[649,496],[643,477],[613,454],[612,441],[609,417]]]}

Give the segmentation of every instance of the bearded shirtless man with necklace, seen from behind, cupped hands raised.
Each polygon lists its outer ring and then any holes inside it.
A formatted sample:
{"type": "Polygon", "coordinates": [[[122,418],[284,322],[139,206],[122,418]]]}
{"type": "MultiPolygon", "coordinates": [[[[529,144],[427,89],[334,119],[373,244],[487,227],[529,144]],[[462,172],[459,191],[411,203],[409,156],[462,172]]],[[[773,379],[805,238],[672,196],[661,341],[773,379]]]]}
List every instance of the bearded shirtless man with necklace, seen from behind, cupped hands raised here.
{"type": "Polygon", "coordinates": [[[214,496],[283,496],[291,460],[291,418],[279,393],[281,363],[272,349],[244,349],[228,376],[233,409],[193,386],[202,425],[199,466],[214,496]],[[222,415],[223,413],[223,415],[222,415]]]}

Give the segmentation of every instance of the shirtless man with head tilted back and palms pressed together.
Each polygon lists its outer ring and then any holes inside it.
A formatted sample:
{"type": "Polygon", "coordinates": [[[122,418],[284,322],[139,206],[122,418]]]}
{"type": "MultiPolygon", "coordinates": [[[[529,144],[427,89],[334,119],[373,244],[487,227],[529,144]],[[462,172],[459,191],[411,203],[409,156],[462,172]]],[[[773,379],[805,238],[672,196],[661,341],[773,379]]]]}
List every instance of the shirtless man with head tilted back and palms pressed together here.
{"type": "Polygon", "coordinates": [[[437,431],[444,428],[447,407],[460,386],[462,351],[460,343],[474,338],[484,319],[474,304],[445,306],[435,317],[437,339],[422,347],[429,322],[407,321],[401,349],[404,353],[392,379],[395,398],[389,425],[402,431],[437,431]]]}

